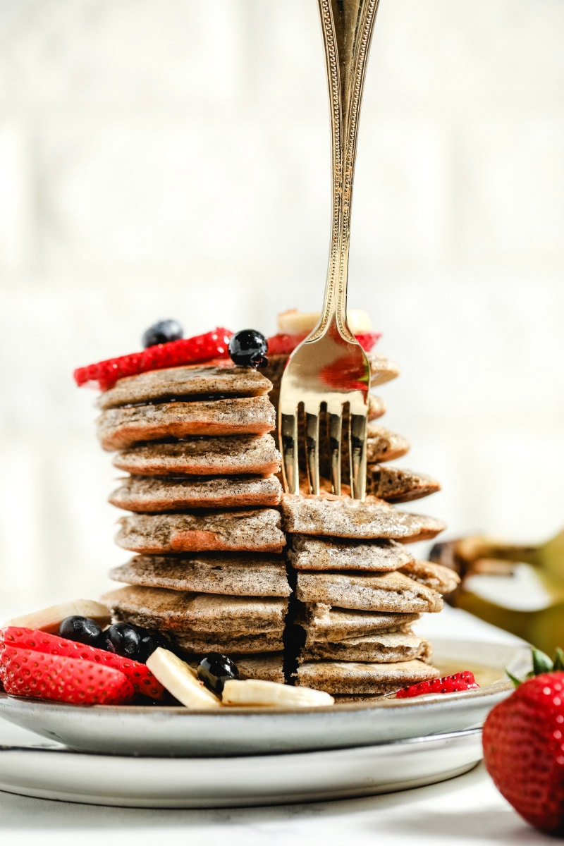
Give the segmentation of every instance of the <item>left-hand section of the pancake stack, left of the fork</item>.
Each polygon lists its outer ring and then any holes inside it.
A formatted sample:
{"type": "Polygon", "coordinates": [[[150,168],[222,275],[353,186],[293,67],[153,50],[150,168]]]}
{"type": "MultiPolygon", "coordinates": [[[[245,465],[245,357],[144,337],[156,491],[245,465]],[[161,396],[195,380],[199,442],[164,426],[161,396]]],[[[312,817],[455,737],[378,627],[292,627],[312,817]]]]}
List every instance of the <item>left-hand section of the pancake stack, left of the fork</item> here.
{"type": "Polygon", "coordinates": [[[168,634],[189,655],[234,656],[242,677],[283,681],[291,593],[271,382],[252,368],[192,365],[120,379],[98,400],[102,448],[129,476],[116,541],[114,618],[168,634]]]}

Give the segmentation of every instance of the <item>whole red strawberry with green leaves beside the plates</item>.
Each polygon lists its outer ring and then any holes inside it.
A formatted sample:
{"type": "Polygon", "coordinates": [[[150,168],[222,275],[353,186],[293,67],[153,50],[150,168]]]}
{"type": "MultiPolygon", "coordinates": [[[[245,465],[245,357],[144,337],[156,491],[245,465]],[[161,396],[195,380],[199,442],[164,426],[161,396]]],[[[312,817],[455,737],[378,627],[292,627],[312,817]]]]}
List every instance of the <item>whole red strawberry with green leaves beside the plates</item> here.
{"type": "MultiPolygon", "coordinates": [[[[533,673],[490,711],[485,766],[517,813],[543,832],[564,834],[564,655],[533,652],[533,673]]],[[[509,674],[509,673],[508,673],[509,674]]]]}

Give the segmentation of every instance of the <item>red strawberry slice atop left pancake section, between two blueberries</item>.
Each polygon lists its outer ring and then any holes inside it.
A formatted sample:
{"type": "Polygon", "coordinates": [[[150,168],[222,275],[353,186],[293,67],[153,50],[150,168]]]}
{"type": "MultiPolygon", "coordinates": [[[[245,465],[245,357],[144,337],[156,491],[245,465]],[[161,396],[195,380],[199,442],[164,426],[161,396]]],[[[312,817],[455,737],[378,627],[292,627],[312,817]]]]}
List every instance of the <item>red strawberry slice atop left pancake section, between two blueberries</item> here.
{"type": "Polygon", "coordinates": [[[74,381],[82,385],[96,384],[102,391],[115,385],[123,376],[135,376],[163,367],[199,364],[215,358],[226,358],[229,338],[233,335],[228,329],[217,328],[205,335],[194,338],[181,338],[169,343],[158,343],[140,353],[121,355],[116,359],[99,361],[94,365],[79,367],[74,371],[74,381]]]}

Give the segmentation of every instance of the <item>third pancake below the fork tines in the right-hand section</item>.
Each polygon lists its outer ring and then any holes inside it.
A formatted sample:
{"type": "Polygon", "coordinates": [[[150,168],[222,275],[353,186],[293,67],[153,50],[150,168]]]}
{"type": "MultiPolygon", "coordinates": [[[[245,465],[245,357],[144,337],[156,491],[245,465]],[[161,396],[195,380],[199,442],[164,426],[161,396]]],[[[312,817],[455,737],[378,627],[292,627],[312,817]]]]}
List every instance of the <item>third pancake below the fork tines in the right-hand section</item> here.
{"type": "Polygon", "coordinates": [[[357,611],[435,613],[443,607],[440,593],[398,572],[379,575],[301,572],[296,596],[300,602],[323,602],[357,611]]]}

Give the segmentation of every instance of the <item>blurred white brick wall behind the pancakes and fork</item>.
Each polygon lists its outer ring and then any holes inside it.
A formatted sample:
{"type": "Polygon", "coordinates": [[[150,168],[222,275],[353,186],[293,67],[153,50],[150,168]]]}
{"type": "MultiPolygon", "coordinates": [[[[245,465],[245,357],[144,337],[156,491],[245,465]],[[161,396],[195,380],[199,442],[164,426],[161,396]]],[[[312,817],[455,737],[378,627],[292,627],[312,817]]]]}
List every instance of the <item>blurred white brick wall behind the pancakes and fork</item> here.
{"type": "MultiPolygon", "coordinates": [[[[564,3],[381,0],[349,304],[415,510],[541,540],[564,515],[564,3]]],[[[315,309],[329,122],[315,0],[0,0],[0,567],[14,612],[98,596],[111,459],[72,371],[315,309]]]]}

